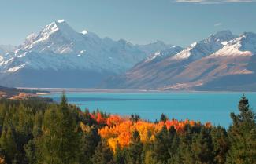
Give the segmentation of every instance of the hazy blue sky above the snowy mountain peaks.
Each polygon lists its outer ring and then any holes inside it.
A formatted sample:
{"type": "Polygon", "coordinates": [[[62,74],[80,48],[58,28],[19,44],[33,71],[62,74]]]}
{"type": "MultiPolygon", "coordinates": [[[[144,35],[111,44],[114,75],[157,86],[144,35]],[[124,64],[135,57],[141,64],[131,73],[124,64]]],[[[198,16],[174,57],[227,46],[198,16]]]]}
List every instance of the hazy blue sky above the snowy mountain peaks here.
{"type": "Polygon", "coordinates": [[[101,38],[188,46],[217,31],[256,32],[256,0],[0,0],[0,44],[61,19],[101,38]]]}

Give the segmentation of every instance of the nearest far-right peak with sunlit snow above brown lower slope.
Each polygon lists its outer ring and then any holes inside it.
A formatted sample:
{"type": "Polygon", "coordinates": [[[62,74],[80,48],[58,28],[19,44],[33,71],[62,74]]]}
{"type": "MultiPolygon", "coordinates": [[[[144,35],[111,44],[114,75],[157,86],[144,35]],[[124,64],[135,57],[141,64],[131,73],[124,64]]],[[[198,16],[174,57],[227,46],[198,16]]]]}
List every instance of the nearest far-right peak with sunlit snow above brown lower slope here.
{"type": "Polygon", "coordinates": [[[239,85],[255,84],[255,63],[256,34],[247,32],[232,39],[210,56],[187,65],[186,69],[175,77],[176,80],[180,79],[180,82],[170,85],[169,88],[184,89],[189,86],[198,89],[234,89],[235,86],[239,88],[239,85]]]}

